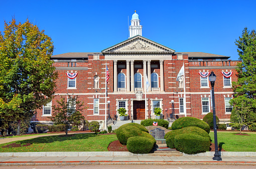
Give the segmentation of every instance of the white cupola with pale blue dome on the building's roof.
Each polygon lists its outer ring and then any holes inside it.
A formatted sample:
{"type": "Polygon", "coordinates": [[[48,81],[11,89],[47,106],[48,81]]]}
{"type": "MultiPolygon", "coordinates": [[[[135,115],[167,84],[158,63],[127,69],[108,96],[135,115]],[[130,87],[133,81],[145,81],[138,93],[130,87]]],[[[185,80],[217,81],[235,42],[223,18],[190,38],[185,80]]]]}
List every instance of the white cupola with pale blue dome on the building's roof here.
{"type": "Polygon", "coordinates": [[[131,26],[129,26],[130,37],[141,35],[142,36],[142,25],[140,25],[141,20],[139,19],[139,14],[135,13],[132,16],[131,26]]]}

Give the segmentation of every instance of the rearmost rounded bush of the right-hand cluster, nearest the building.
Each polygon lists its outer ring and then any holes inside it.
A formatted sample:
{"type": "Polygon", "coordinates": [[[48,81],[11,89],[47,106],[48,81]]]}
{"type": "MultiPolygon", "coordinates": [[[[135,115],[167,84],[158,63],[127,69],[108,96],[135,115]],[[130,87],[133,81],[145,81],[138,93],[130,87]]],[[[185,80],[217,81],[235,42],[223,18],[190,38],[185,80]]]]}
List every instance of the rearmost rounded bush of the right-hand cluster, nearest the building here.
{"type": "Polygon", "coordinates": [[[187,126],[198,126],[202,129],[204,129],[206,132],[210,132],[210,126],[204,122],[201,119],[195,118],[195,117],[181,117],[176,119],[173,123],[172,123],[172,129],[180,129],[180,128],[184,128],[187,126]]]}

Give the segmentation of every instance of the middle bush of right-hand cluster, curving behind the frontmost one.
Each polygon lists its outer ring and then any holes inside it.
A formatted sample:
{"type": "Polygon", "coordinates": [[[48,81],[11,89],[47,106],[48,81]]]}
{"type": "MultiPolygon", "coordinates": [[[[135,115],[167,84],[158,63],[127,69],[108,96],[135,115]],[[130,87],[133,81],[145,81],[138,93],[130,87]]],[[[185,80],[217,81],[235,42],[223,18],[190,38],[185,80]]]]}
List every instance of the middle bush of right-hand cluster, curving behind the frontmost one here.
{"type": "Polygon", "coordinates": [[[185,134],[185,133],[197,134],[197,135],[200,135],[202,137],[208,138],[209,141],[211,139],[210,135],[205,130],[203,130],[202,128],[199,128],[197,126],[188,126],[188,127],[185,127],[185,128],[175,129],[175,130],[167,132],[165,134],[165,139],[166,139],[167,146],[170,147],[170,148],[175,148],[174,137],[178,134],[185,134]]]}

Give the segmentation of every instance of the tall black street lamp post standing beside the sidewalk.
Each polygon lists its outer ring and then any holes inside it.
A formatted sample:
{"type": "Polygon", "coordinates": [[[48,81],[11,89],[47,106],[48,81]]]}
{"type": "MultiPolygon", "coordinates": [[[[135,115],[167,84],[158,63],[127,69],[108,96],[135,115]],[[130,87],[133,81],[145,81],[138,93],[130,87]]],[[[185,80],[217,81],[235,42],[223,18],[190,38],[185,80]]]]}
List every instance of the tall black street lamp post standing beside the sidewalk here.
{"type": "Polygon", "coordinates": [[[211,82],[213,129],[214,129],[214,144],[215,144],[215,153],[212,159],[221,161],[222,159],[218,151],[217,125],[216,125],[215,99],[214,99],[214,82],[216,80],[216,75],[213,73],[213,71],[211,71],[211,74],[209,75],[209,80],[211,82]]]}

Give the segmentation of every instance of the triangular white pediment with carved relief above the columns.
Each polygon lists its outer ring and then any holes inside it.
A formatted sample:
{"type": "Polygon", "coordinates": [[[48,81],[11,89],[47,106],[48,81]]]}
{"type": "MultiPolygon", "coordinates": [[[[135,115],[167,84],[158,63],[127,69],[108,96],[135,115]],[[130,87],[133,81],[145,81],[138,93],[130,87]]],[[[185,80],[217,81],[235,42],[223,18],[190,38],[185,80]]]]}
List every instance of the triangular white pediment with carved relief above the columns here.
{"type": "Polygon", "coordinates": [[[175,52],[174,49],[159,44],[146,37],[137,35],[102,50],[102,53],[126,52],[175,52]]]}

